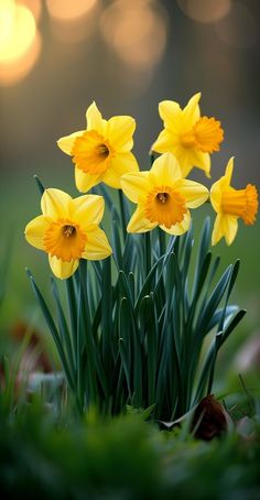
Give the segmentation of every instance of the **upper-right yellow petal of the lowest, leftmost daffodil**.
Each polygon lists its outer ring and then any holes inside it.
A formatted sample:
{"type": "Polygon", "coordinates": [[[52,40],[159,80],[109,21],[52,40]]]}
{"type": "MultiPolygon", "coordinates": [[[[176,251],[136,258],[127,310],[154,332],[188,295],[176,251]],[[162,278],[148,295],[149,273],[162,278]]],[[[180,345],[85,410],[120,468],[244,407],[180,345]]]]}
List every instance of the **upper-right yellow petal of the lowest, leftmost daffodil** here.
{"type": "Polygon", "coordinates": [[[73,199],[74,217],[82,228],[89,224],[99,224],[105,210],[102,196],[85,195],[73,199]]]}

